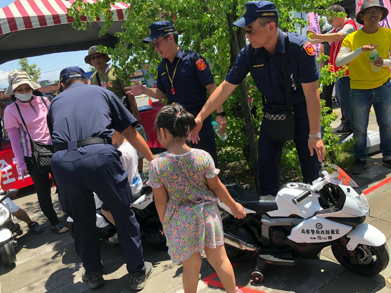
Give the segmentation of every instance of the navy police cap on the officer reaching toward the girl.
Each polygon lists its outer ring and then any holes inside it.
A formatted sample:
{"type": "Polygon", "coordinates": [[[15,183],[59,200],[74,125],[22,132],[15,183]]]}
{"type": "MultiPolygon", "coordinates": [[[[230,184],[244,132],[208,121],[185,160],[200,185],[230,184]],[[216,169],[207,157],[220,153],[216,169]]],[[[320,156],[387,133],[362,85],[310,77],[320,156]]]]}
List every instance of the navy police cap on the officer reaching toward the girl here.
{"type": "Polygon", "coordinates": [[[258,17],[278,17],[276,5],[269,1],[250,1],[244,4],[243,17],[235,21],[235,27],[247,27],[258,17]]]}

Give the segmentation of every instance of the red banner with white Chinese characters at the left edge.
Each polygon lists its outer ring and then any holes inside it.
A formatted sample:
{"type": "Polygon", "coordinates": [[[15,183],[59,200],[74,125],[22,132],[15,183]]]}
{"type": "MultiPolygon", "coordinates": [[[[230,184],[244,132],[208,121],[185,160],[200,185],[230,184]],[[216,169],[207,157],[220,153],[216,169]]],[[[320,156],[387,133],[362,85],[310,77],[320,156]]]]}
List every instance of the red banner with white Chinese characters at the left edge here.
{"type": "Polygon", "coordinates": [[[7,191],[11,188],[20,189],[33,184],[30,175],[26,175],[24,181],[19,167],[16,165],[15,155],[12,149],[0,152],[0,170],[2,170],[1,188],[7,191]]]}

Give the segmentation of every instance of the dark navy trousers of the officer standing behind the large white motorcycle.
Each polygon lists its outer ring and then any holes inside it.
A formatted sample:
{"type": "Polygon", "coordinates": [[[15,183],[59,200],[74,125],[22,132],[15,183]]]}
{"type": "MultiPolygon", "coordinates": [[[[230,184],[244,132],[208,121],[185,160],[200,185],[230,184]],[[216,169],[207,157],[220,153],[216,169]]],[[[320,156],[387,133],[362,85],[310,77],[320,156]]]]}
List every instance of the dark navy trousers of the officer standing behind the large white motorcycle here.
{"type": "MultiPolygon", "coordinates": [[[[305,103],[304,106],[300,107],[305,107],[305,103]]],[[[296,144],[300,159],[303,182],[312,184],[312,181],[319,177],[321,163],[315,152],[312,157],[310,155],[308,149],[308,134],[310,131],[308,116],[299,113],[296,116],[296,112],[303,113],[303,111],[307,110],[300,110],[295,111],[295,135],[293,141],[296,144]]],[[[260,192],[262,194],[276,195],[280,188],[280,160],[283,145],[284,143],[270,141],[266,138],[262,123],[258,142],[258,174],[260,192]]]]}

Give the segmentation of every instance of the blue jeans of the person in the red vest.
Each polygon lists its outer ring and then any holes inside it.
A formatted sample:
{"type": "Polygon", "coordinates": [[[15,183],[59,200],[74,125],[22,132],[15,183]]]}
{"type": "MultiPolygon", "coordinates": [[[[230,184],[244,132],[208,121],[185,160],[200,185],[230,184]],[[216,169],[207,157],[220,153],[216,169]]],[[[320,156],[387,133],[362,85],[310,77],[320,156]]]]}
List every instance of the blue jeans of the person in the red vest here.
{"type": "Polygon", "coordinates": [[[352,110],[350,109],[350,77],[343,76],[335,82],[335,95],[337,96],[338,104],[343,111],[345,117],[345,127],[353,128],[352,110]]]}

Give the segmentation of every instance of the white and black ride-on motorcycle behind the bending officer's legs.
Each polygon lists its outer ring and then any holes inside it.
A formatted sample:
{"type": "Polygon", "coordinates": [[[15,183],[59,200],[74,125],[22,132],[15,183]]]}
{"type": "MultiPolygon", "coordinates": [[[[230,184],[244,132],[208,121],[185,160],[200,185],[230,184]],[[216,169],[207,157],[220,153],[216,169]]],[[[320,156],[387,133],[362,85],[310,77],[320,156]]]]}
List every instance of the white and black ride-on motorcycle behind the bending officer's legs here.
{"type": "MultiPolygon", "coordinates": [[[[96,225],[100,239],[108,239],[116,232],[115,226],[106,219],[101,211],[103,202],[94,194],[96,206],[96,225]]],[[[163,233],[163,227],[159,220],[158,212],[153,200],[152,188],[146,184],[142,189],[133,195],[132,204],[133,212],[136,220],[140,225],[141,237],[147,241],[149,245],[159,250],[167,250],[166,238],[163,233]]],[[[71,236],[74,238],[73,219],[68,217],[68,229],[71,236]]]]}

